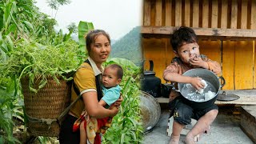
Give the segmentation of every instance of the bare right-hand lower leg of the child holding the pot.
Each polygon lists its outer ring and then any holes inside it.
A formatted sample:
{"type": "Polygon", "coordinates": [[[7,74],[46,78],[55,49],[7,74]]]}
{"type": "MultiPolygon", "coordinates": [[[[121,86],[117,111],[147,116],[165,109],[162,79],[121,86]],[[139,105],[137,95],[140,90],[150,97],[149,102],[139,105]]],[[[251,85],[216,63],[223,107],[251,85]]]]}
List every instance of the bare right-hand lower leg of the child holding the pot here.
{"type": "Polygon", "coordinates": [[[201,118],[199,118],[198,122],[194,125],[192,130],[190,130],[190,132],[186,134],[186,143],[193,144],[194,137],[204,132],[210,126],[210,124],[214,122],[214,119],[216,118],[217,114],[218,110],[210,110],[201,118]]]}

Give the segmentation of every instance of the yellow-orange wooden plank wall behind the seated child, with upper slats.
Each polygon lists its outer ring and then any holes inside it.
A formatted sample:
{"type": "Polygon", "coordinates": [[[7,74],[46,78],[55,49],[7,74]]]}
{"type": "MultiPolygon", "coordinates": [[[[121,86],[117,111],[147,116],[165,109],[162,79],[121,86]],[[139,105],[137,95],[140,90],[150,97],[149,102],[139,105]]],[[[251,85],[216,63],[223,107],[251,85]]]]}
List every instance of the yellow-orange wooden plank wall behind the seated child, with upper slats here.
{"type": "MultiPolygon", "coordinates": [[[[256,0],[144,0],[143,26],[256,29],[256,0]]],[[[256,88],[254,41],[200,38],[198,43],[201,54],[222,64],[223,90],[256,88]]],[[[170,38],[142,38],[142,51],[162,78],[174,58],[170,38]]],[[[147,63],[145,69],[149,69],[147,63]]]]}

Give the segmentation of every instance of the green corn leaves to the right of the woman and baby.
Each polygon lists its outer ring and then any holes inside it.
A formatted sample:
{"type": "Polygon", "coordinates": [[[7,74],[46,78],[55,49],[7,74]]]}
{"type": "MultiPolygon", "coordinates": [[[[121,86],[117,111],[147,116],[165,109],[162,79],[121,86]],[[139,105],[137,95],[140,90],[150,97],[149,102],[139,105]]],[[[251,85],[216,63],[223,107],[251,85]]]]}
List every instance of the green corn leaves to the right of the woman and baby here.
{"type": "Polygon", "coordinates": [[[112,126],[103,135],[103,143],[141,143],[142,118],[139,109],[139,75],[141,69],[123,58],[111,58],[106,65],[118,63],[124,70],[122,86],[123,102],[114,116],[112,126]]]}

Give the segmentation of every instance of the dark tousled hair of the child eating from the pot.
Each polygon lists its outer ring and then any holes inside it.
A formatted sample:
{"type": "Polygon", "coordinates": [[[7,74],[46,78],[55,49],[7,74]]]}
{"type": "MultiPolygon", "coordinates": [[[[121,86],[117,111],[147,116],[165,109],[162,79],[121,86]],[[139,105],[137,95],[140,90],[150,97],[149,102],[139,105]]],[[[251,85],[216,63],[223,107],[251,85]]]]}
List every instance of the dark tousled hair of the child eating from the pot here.
{"type": "Polygon", "coordinates": [[[174,34],[170,37],[170,42],[173,50],[178,52],[178,48],[184,43],[198,42],[198,37],[190,27],[181,26],[174,30],[174,34]]]}

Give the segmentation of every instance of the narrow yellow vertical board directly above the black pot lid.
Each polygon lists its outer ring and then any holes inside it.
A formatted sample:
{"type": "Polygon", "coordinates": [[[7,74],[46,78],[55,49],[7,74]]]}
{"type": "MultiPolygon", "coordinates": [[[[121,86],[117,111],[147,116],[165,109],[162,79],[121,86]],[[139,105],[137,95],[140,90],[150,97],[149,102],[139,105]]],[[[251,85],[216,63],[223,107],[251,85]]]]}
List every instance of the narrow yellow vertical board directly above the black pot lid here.
{"type": "Polygon", "coordinates": [[[226,85],[222,90],[234,90],[234,41],[222,41],[222,76],[226,85]]]}

